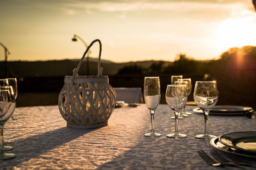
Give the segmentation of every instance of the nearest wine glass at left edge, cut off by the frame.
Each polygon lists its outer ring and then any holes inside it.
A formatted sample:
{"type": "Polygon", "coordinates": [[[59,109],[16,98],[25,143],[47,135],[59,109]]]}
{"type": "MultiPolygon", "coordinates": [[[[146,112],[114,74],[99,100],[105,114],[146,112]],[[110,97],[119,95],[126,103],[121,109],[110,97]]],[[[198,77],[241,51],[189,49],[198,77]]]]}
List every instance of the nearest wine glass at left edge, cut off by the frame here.
{"type": "Polygon", "coordinates": [[[3,129],[6,120],[12,117],[15,103],[13,104],[12,94],[9,90],[0,89],[0,160],[12,159],[15,157],[13,153],[4,153],[3,146],[3,129]]]}

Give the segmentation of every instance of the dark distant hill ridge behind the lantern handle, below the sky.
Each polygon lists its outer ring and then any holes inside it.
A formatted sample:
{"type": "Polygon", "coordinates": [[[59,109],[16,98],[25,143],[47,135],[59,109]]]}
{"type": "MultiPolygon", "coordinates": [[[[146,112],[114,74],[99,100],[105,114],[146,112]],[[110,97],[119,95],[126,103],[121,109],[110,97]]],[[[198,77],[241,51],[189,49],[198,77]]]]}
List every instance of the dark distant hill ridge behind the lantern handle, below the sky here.
{"type": "MultiPolygon", "coordinates": [[[[97,74],[97,60],[90,58],[90,74],[97,74]]],[[[148,67],[157,60],[145,60],[138,62],[111,62],[109,60],[101,60],[100,66],[103,67],[103,74],[115,75],[118,69],[136,64],[141,67],[148,67]]],[[[47,61],[10,61],[8,62],[8,77],[15,76],[28,77],[28,76],[65,76],[72,75],[72,71],[77,67],[79,59],[72,60],[47,60],[47,61]]],[[[172,63],[165,61],[166,65],[172,63]]],[[[86,75],[86,60],[83,61],[79,70],[79,75],[86,75]]],[[[4,61],[0,62],[0,76],[5,77],[4,61]]]]}

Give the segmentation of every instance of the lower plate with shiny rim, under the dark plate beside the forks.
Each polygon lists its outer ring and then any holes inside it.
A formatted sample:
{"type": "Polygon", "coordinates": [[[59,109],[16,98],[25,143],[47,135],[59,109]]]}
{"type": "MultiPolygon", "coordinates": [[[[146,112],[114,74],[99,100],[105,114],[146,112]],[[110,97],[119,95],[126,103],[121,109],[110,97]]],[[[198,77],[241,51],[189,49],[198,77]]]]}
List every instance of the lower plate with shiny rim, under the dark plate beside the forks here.
{"type": "Polygon", "coordinates": [[[210,140],[210,144],[218,149],[221,150],[223,152],[228,152],[228,153],[234,153],[236,155],[240,155],[240,156],[244,156],[244,157],[251,157],[251,158],[256,158],[256,155],[253,155],[252,153],[247,153],[247,152],[240,152],[238,150],[234,150],[226,145],[223,145],[222,143],[220,143],[219,141],[220,136],[216,137],[216,138],[212,138],[210,140]]]}

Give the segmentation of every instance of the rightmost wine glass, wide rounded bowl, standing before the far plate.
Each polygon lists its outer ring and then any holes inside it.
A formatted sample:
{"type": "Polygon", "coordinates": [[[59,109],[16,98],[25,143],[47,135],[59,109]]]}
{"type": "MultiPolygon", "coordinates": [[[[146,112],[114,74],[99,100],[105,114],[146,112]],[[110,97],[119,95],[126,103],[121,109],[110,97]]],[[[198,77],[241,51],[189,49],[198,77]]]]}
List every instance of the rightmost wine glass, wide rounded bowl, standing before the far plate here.
{"type": "Polygon", "coordinates": [[[218,89],[216,81],[196,81],[194,90],[196,105],[204,112],[205,132],[198,134],[197,139],[212,139],[216,136],[208,134],[209,111],[218,101],[218,89]]]}

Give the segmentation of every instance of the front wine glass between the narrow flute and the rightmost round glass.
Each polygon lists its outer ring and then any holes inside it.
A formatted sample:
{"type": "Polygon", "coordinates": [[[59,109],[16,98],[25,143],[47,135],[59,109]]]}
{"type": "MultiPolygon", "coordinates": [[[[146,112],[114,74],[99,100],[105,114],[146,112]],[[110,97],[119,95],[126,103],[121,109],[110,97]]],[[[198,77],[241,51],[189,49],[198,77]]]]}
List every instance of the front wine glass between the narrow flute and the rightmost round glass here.
{"type": "Polygon", "coordinates": [[[186,85],[167,85],[165,99],[166,103],[174,111],[175,133],[168,134],[169,138],[186,138],[186,134],[180,134],[178,130],[178,115],[187,102],[186,85]]]}

